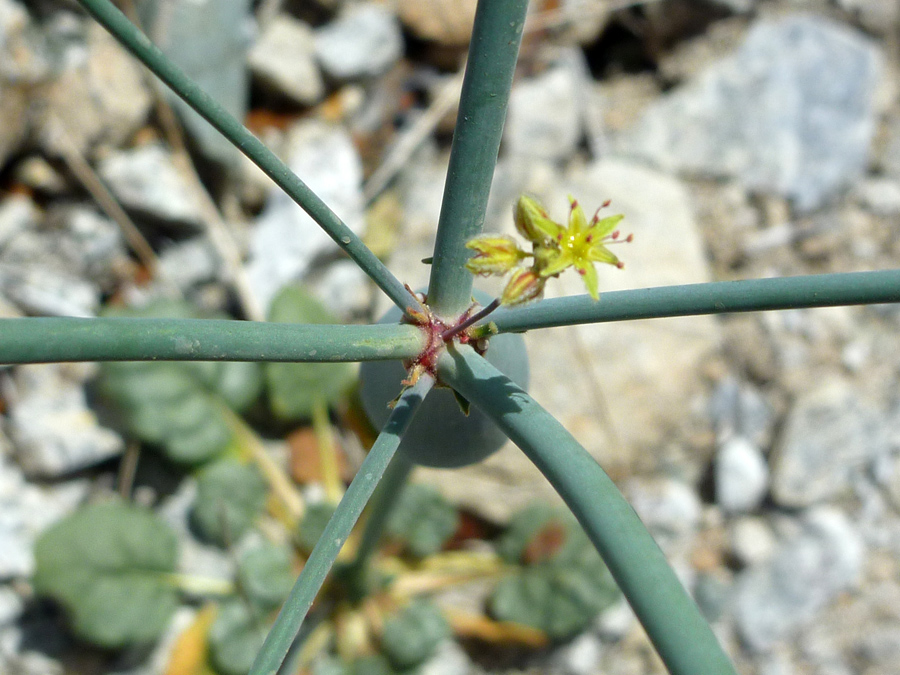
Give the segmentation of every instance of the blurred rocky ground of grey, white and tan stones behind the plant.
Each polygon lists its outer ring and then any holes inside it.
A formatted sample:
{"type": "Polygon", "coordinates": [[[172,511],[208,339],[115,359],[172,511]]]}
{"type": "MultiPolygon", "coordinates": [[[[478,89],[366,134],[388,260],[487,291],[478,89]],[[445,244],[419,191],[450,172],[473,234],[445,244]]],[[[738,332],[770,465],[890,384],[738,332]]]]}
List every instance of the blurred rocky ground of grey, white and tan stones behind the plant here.
{"type": "MultiPolygon", "coordinates": [[[[427,282],[473,2],[137,4],[403,281],[427,282]]],[[[611,199],[635,242],[601,290],[896,267],[896,0],[532,5],[487,230],[512,231],[522,192],[560,217],[569,193],[611,199]]],[[[346,321],[386,309],[168,100],[76,3],[0,0],[0,315],[180,294],[261,318],[292,280],[346,321]]],[[[548,295],[581,292],[572,273],[548,295]]],[[[900,309],[872,306],[527,336],[533,395],[619,482],[742,673],[900,673],[898,330],[900,309]]],[[[0,672],[80,672],[29,579],[37,535],[112,489],[128,444],[91,407],[94,374],[0,371],[0,672]]],[[[513,447],[419,477],[491,521],[553,499],[513,447]]],[[[662,672],[623,606],[508,663],[448,649],[441,673],[662,672]]]]}

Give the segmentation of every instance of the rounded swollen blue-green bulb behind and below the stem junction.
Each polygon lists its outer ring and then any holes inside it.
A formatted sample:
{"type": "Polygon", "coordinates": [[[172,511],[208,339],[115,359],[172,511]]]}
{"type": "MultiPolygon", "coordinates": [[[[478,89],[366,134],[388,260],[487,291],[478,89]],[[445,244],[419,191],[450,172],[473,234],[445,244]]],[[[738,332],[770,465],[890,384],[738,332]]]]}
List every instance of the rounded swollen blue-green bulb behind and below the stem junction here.
{"type": "MultiPolygon", "coordinates": [[[[491,301],[486,293],[475,291],[482,304],[491,301]]],[[[398,323],[401,312],[391,308],[379,323],[398,323]]],[[[503,333],[490,338],[485,358],[523,389],[528,387],[528,354],[521,335],[503,333]]],[[[359,371],[360,397],[369,420],[377,428],[384,426],[390,409],[406,377],[399,361],[367,361],[359,371]]],[[[474,406],[465,416],[449,389],[435,388],[428,394],[400,443],[409,461],[421,466],[454,469],[480,462],[499,450],[506,436],[474,406]]]]}

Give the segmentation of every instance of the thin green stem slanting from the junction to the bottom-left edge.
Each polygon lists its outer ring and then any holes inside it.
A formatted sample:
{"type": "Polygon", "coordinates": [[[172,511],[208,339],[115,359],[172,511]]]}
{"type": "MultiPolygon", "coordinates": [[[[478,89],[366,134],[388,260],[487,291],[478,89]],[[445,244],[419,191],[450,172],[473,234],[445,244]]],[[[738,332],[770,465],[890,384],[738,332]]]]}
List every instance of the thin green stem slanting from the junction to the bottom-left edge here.
{"type": "Polygon", "coordinates": [[[257,654],[249,675],[276,675],[278,673],[291,644],[300,632],[303,620],[306,618],[316,594],[334,565],[341,547],[372,496],[372,492],[378,485],[391,458],[396,453],[400,439],[412,421],[419,404],[433,384],[434,381],[430,377],[423,376],[400,397],[384,425],[384,429],[375,441],[375,445],[369,450],[359,472],[350,483],[350,487],[347,488],[344,498],[325,526],[319,541],[316,542],[291,594],[278,613],[272,630],[269,631],[262,649],[257,654]]]}

